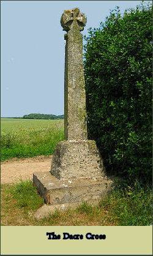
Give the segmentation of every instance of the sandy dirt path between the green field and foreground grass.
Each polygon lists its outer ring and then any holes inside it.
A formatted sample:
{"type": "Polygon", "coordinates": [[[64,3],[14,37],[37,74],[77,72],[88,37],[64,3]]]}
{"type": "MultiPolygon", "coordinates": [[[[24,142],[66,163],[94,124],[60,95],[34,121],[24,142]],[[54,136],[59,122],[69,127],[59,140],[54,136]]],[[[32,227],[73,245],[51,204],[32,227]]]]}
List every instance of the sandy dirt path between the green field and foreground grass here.
{"type": "Polygon", "coordinates": [[[32,179],[32,174],[49,171],[52,156],[39,156],[25,159],[12,159],[1,163],[1,184],[32,179]]]}

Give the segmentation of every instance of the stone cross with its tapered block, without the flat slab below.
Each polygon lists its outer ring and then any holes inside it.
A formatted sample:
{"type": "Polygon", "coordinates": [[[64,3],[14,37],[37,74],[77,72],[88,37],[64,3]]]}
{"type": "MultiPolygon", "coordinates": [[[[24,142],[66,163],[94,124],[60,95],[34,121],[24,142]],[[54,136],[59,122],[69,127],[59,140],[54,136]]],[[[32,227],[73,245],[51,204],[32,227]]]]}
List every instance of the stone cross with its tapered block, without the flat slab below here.
{"type": "Polygon", "coordinates": [[[78,8],[64,10],[65,34],[64,131],[53,155],[50,173],[58,179],[105,176],[95,141],[88,140],[83,70],[83,38],[86,17],[78,8]]]}

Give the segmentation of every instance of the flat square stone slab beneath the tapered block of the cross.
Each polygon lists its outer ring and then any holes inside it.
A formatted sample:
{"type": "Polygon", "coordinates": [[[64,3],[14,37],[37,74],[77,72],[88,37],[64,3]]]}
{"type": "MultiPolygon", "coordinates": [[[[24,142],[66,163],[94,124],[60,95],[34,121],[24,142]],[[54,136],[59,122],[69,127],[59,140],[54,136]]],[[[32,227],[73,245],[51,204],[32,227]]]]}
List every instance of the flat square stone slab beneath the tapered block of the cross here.
{"type": "Polygon", "coordinates": [[[62,180],[50,172],[34,173],[33,182],[45,203],[53,205],[99,200],[112,184],[112,180],[106,177],[62,180]]]}

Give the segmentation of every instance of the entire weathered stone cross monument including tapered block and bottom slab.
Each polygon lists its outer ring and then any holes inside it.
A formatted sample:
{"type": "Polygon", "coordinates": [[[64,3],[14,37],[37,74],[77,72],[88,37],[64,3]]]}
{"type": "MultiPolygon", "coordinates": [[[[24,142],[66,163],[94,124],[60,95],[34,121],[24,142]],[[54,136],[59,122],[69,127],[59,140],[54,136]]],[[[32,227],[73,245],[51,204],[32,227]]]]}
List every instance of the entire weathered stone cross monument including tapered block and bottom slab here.
{"type": "Polygon", "coordinates": [[[111,180],[95,141],[88,140],[83,71],[86,17],[78,8],[65,10],[61,26],[67,33],[64,77],[65,141],[59,142],[50,172],[34,173],[33,182],[47,204],[77,203],[101,198],[111,180]]]}

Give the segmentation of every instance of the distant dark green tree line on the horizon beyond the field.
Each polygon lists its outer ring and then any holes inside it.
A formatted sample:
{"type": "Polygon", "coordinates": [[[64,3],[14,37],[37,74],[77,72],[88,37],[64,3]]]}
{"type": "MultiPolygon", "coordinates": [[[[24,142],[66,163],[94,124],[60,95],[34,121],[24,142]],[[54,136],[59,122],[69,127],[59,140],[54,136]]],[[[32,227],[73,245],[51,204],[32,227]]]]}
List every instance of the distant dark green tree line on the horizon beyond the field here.
{"type": "Polygon", "coordinates": [[[64,115],[50,115],[50,114],[29,114],[23,115],[24,119],[64,119],[64,115]]]}

